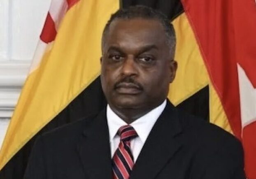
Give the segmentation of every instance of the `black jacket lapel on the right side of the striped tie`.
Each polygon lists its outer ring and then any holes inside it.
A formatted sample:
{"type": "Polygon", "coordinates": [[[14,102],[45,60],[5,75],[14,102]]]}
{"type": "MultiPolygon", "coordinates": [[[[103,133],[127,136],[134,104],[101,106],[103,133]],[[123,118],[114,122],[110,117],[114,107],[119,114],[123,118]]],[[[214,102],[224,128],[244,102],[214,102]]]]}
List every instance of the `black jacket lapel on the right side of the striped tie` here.
{"type": "Polygon", "coordinates": [[[176,109],[168,101],[136,160],[130,179],[153,179],[182,147],[177,135],[182,132],[176,109]]]}

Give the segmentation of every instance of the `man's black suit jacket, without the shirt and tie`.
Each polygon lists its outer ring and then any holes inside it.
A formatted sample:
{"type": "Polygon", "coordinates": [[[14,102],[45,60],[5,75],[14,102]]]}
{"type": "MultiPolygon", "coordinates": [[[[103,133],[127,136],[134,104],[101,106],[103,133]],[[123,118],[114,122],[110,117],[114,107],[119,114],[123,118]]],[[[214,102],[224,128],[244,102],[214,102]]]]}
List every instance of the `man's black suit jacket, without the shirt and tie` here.
{"type": "MultiPolygon", "coordinates": [[[[170,102],[130,179],[244,179],[240,142],[170,102]]],[[[38,137],[25,179],[112,179],[106,110],[38,137]]]]}

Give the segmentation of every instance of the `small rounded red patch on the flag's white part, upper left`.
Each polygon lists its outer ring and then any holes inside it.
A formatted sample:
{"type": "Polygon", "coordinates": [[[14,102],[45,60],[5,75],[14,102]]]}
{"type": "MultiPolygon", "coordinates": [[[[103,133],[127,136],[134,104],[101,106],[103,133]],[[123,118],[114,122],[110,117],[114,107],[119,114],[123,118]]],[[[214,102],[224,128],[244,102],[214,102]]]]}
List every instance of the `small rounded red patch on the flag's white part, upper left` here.
{"type": "Polygon", "coordinates": [[[56,34],[57,32],[55,29],[54,20],[51,18],[51,15],[48,12],[45,23],[44,23],[44,28],[40,35],[40,39],[45,43],[49,43],[54,41],[56,34]]]}

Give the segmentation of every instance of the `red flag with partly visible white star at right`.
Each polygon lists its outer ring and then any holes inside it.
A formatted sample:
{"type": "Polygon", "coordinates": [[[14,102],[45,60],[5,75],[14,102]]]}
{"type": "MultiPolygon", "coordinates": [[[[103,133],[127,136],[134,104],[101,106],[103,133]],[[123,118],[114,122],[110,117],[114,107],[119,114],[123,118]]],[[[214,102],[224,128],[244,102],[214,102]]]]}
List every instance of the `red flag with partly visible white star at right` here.
{"type": "Polygon", "coordinates": [[[256,178],[256,2],[182,0],[213,90],[234,135],[242,140],[245,171],[256,178]]]}

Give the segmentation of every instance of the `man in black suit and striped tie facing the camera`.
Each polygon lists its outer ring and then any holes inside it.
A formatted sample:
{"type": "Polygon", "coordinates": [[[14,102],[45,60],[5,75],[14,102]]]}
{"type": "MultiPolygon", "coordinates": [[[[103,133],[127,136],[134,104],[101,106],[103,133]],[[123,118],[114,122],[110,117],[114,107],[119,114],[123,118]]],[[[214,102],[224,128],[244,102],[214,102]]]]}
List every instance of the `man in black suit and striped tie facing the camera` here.
{"type": "Polygon", "coordinates": [[[244,179],[240,142],[166,100],[175,43],[153,9],[113,14],[102,35],[107,109],[38,137],[25,179],[244,179]]]}

